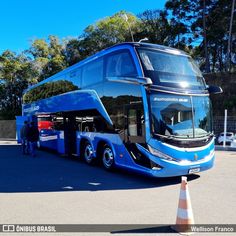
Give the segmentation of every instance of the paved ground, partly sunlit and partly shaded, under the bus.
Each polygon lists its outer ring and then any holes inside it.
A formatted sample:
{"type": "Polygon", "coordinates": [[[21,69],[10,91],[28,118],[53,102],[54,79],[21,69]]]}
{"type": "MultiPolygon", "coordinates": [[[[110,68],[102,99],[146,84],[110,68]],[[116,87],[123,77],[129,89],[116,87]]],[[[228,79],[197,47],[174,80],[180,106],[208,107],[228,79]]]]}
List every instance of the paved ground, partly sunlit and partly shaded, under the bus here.
{"type": "MultiPolygon", "coordinates": [[[[196,224],[235,223],[235,167],[236,152],[217,151],[213,169],[188,177],[196,224]]],[[[15,143],[2,143],[0,224],[171,225],[180,181],[107,172],[45,151],[33,158],[15,143]]]]}

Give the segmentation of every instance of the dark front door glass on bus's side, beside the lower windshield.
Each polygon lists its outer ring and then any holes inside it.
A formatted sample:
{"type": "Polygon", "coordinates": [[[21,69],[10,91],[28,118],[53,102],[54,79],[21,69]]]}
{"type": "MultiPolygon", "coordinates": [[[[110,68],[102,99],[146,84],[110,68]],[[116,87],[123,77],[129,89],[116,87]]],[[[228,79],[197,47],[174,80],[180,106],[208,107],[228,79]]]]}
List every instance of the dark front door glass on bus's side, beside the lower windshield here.
{"type": "Polygon", "coordinates": [[[144,113],[141,103],[125,106],[125,142],[145,143],[144,113]]]}

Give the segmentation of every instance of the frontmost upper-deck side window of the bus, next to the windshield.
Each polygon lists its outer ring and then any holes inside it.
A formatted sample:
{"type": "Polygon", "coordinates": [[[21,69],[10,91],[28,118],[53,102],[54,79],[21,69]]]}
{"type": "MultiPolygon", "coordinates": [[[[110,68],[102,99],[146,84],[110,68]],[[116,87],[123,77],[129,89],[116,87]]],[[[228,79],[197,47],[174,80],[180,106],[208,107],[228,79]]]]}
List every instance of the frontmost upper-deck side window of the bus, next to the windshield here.
{"type": "Polygon", "coordinates": [[[111,54],[106,60],[106,77],[135,77],[137,71],[128,51],[111,54]]]}

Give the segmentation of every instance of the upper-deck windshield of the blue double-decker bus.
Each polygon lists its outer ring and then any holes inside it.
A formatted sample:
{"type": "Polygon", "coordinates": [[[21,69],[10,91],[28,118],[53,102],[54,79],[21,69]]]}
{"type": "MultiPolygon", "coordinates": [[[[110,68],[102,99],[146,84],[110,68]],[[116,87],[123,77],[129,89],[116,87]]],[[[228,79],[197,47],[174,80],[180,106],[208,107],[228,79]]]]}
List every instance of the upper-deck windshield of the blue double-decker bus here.
{"type": "Polygon", "coordinates": [[[158,50],[138,49],[144,74],[154,85],[180,89],[202,90],[205,81],[193,59],[158,50]]]}

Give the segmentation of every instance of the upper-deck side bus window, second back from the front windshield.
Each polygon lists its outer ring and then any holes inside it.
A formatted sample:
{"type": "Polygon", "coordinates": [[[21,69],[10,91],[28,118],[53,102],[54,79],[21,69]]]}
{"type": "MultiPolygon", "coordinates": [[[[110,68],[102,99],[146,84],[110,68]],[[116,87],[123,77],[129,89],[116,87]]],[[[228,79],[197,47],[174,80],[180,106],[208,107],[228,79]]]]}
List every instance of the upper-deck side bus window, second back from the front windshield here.
{"type": "Polygon", "coordinates": [[[99,83],[103,80],[103,59],[89,62],[82,69],[82,86],[99,83]]]}

